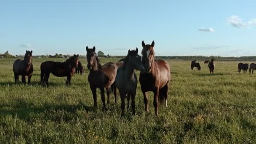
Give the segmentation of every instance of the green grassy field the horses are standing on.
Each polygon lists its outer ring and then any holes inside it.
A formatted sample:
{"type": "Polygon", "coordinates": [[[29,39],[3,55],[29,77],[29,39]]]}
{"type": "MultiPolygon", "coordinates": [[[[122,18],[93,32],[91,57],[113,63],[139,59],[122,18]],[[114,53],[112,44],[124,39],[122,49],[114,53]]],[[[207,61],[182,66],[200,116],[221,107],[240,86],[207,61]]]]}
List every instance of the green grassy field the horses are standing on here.
{"type": "Polygon", "coordinates": [[[49,88],[40,86],[45,60],[33,59],[32,85],[24,86],[14,84],[14,59],[0,59],[0,143],[256,143],[256,74],[238,74],[239,61],[216,61],[213,75],[203,61],[201,71],[191,71],[190,61],[168,61],[168,108],[160,106],[156,117],[150,92],[145,113],[138,84],[136,116],[129,109],[120,117],[119,95],[115,104],[111,94],[102,112],[97,91],[93,108],[88,70],[75,75],[70,87],[66,77],[53,75],[49,88]]]}

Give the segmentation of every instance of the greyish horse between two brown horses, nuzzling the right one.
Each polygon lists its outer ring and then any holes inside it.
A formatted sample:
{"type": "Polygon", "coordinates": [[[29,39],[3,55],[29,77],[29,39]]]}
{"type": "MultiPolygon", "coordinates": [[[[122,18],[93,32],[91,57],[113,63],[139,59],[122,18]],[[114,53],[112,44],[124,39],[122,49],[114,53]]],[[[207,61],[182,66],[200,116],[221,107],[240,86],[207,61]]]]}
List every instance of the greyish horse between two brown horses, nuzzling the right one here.
{"type": "Polygon", "coordinates": [[[123,61],[123,66],[117,69],[117,76],[115,78],[115,85],[119,90],[121,97],[121,109],[122,114],[124,115],[125,109],[125,96],[127,96],[127,109],[129,108],[130,97],[131,97],[131,106],[133,109],[133,115],[135,115],[135,96],[137,91],[137,76],[135,69],[139,71],[144,71],[142,67],[141,56],[138,55],[138,48],[136,50],[128,51],[128,55],[123,61]]]}

